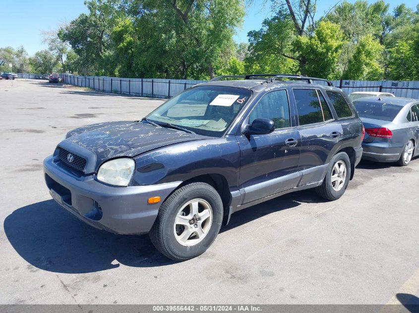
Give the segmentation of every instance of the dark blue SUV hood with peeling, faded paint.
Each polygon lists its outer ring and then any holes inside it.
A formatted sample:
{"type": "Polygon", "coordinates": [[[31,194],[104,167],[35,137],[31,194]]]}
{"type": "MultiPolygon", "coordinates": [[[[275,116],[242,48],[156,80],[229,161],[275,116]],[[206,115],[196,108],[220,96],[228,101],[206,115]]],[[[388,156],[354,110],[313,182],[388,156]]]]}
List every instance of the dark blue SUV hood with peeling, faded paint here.
{"type": "Polygon", "coordinates": [[[96,169],[106,160],[138,154],[175,143],[208,138],[197,134],[136,122],[92,124],[70,131],[66,141],[96,154],[96,169]]]}

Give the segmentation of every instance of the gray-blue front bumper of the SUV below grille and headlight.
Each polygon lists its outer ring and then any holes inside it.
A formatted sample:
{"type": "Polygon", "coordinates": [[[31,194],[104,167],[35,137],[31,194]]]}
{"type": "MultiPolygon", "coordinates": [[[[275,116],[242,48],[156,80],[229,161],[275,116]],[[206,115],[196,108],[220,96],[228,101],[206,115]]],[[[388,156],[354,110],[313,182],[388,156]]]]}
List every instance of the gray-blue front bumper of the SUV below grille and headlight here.
{"type": "Polygon", "coordinates": [[[118,234],[147,233],[162,203],[148,204],[148,198],[160,196],[164,201],[181,183],[109,186],[93,175],[72,175],[57,165],[53,156],[44,160],[44,176],[51,196],[60,206],[93,227],[118,234]]]}

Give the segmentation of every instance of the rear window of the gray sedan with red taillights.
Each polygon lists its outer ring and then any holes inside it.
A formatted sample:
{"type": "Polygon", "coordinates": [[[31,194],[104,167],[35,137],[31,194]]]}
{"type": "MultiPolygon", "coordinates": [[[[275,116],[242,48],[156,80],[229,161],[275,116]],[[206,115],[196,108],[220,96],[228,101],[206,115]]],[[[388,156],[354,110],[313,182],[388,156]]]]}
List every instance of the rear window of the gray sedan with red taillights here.
{"type": "Polygon", "coordinates": [[[381,102],[363,102],[362,100],[354,102],[359,117],[365,117],[382,121],[393,121],[402,109],[400,105],[387,104],[381,102]]]}

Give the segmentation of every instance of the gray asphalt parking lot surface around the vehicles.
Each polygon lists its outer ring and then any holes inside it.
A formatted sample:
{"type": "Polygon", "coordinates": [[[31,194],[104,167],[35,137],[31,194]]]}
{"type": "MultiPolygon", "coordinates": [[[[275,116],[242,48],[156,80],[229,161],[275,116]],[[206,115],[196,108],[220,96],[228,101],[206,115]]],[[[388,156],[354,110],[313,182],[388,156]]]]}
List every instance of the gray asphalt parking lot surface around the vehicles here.
{"type": "Polygon", "coordinates": [[[42,172],[64,134],[137,120],[147,99],[0,81],[1,304],[387,304],[419,297],[419,158],[362,161],[345,195],[312,190],[235,213],[198,258],[148,236],[92,228],[50,197],[42,172]],[[399,295],[399,296],[397,296],[399,295]]]}

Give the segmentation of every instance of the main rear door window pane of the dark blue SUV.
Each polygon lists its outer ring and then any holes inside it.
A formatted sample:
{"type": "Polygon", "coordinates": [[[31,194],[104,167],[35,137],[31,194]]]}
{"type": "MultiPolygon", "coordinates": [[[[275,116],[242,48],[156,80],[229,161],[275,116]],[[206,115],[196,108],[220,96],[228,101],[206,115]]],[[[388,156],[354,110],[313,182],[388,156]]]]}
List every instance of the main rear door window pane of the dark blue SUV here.
{"type": "Polygon", "coordinates": [[[316,89],[293,89],[293,91],[297,104],[299,125],[324,122],[316,89]]]}

